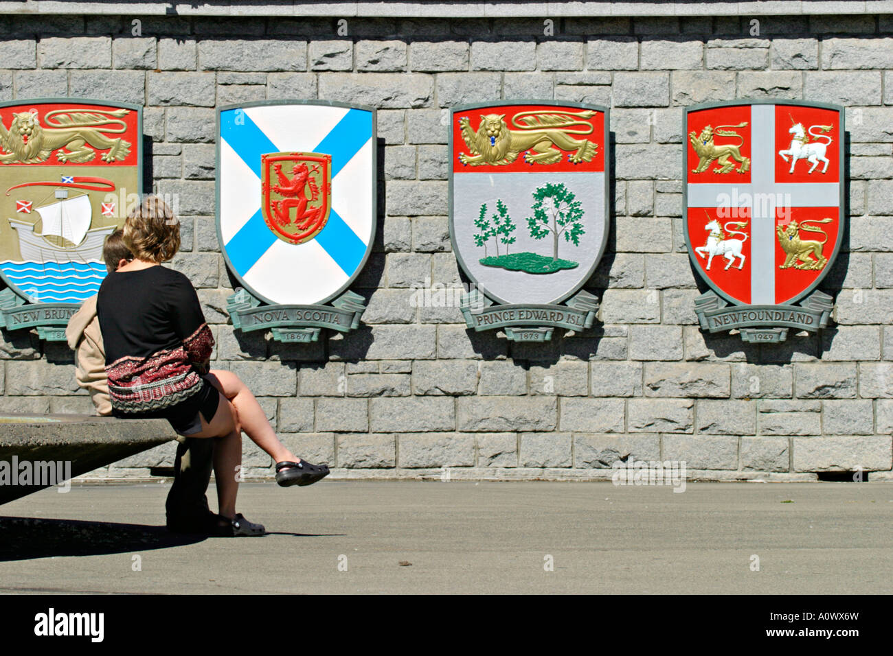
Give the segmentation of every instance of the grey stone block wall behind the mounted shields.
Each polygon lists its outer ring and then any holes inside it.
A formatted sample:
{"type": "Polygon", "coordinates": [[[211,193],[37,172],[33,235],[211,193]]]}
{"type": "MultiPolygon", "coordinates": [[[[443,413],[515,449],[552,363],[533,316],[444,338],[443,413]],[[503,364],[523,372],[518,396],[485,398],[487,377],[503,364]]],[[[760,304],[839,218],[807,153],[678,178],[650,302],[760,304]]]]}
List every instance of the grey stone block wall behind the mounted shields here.
{"type": "MultiPolygon", "coordinates": [[[[213,325],[213,367],[243,378],[289,447],[336,476],[600,478],[631,454],[686,461],[701,477],[889,477],[893,17],[763,16],[758,32],[744,16],[569,17],[553,29],[538,18],[177,16],[137,29],[125,16],[7,15],[0,98],[145,106],[146,174],[178,195],[172,265],[213,325]],[[280,98],[379,109],[378,236],[354,286],[368,310],[359,330],[313,345],[234,333],[214,232],[214,108],[280,98]],[[612,111],[612,230],[587,286],[601,322],[545,345],[465,329],[447,227],[447,108],[530,98],[612,111]],[[697,327],[682,108],[735,98],[847,107],[850,230],[822,283],[838,308],[820,336],[746,345],[697,327]]],[[[64,345],[4,332],[0,363],[0,411],[91,411],[64,345]]],[[[173,451],[94,476],[146,476],[173,451]]],[[[245,465],[271,472],[247,439],[245,465]]]]}

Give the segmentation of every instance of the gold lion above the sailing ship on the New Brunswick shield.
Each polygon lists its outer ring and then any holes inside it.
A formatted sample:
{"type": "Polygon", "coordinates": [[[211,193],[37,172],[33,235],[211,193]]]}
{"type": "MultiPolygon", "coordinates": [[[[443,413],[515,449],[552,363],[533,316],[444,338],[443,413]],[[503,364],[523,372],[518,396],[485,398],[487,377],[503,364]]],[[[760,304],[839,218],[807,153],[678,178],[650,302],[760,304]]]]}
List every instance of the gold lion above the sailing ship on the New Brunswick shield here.
{"type": "Polygon", "coordinates": [[[121,162],[130,153],[130,143],[106,135],[126,132],[127,124],[121,118],[128,113],[125,109],[54,110],[46,112],[46,127],[40,124],[36,111],[15,113],[9,129],[0,120],[0,145],[6,151],[0,154],[0,162],[46,162],[54,152],[63,163],[90,162],[96,157],[96,150],[107,151],[101,155],[103,162],[121,162]]]}

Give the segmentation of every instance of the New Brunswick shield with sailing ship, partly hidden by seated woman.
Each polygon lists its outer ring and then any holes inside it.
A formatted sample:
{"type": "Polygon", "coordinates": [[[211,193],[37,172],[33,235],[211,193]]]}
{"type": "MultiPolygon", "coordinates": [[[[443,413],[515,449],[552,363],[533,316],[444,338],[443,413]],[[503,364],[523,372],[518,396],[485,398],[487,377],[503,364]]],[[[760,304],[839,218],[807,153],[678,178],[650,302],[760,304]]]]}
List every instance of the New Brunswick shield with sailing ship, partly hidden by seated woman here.
{"type": "MultiPolygon", "coordinates": [[[[25,115],[36,126],[50,125],[47,116],[98,117],[94,122],[113,116],[120,137],[91,141],[93,156],[72,156],[77,140],[46,138],[53,147],[39,157],[0,153],[0,278],[7,286],[0,292],[0,328],[36,327],[56,341],[107,273],[104,241],[124,220],[126,203],[118,199],[142,191],[142,112],[71,98],[0,103],[0,124],[17,117],[21,123],[25,115]]],[[[0,146],[12,153],[5,142],[0,146]]]]}

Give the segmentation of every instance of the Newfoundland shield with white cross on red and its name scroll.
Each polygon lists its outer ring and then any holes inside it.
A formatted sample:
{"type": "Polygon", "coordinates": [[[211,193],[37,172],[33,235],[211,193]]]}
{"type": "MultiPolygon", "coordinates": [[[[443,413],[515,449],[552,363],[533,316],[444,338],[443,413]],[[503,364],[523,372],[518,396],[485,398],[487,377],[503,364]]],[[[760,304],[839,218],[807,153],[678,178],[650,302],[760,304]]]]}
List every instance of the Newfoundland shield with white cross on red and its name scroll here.
{"type": "Polygon", "coordinates": [[[846,227],[844,113],[837,105],[733,101],[685,112],[689,257],[710,291],[701,328],[780,342],[824,328],[830,295],[815,289],[846,227]]]}

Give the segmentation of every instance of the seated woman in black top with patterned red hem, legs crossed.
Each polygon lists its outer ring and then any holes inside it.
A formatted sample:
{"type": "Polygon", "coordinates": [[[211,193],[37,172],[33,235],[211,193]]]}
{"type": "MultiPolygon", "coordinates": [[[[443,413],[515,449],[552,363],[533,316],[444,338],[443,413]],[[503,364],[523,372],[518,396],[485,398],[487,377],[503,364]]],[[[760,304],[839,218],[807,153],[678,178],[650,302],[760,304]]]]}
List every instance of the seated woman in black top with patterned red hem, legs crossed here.
{"type": "Polygon", "coordinates": [[[167,205],[147,196],[127,218],[123,239],[134,259],[104,279],[96,301],[112,414],[168,419],[179,435],[214,438],[221,535],[263,535],[263,526],[236,512],[242,431],[276,462],[280,486],[311,485],[329,468],[288,451],[238,377],[208,370],[213,335],[196,290],[160,266],[179,249],[179,220],[167,205]]]}

